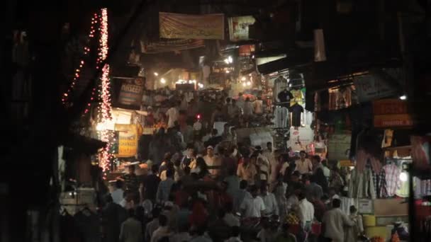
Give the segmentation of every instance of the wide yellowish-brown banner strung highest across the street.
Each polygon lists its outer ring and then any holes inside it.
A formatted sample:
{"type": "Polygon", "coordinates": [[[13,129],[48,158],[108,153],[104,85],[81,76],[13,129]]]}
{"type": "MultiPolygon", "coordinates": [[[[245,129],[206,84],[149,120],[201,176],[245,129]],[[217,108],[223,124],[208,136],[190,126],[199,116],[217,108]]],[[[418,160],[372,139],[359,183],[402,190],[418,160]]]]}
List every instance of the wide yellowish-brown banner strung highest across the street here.
{"type": "Polygon", "coordinates": [[[225,16],[159,12],[159,34],[166,39],[224,40],[225,16]]]}

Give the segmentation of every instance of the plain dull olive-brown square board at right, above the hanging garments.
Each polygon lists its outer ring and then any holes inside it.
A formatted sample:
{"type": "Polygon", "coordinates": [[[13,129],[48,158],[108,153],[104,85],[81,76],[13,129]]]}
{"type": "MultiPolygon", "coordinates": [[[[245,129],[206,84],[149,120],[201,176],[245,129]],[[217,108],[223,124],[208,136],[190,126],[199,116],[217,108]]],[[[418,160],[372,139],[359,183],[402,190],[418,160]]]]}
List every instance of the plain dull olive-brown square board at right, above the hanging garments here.
{"type": "Polygon", "coordinates": [[[328,159],[334,161],[343,161],[349,159],[350,134],[333,134],[328,139],[328,159]]]}

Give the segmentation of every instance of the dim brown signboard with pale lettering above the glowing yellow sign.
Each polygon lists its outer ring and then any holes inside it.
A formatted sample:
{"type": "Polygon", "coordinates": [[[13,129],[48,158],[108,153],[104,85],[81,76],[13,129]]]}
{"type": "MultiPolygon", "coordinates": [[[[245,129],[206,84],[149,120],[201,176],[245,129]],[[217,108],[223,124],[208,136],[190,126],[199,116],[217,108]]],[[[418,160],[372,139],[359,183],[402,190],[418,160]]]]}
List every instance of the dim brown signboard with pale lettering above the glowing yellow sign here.
{"type": "Polygon", "coordinates": [[[144,85],[145,83],[142,78],[123,79],[120,96],[118,96],[118,103],[139,107],[144,92],[144,85]]]}

